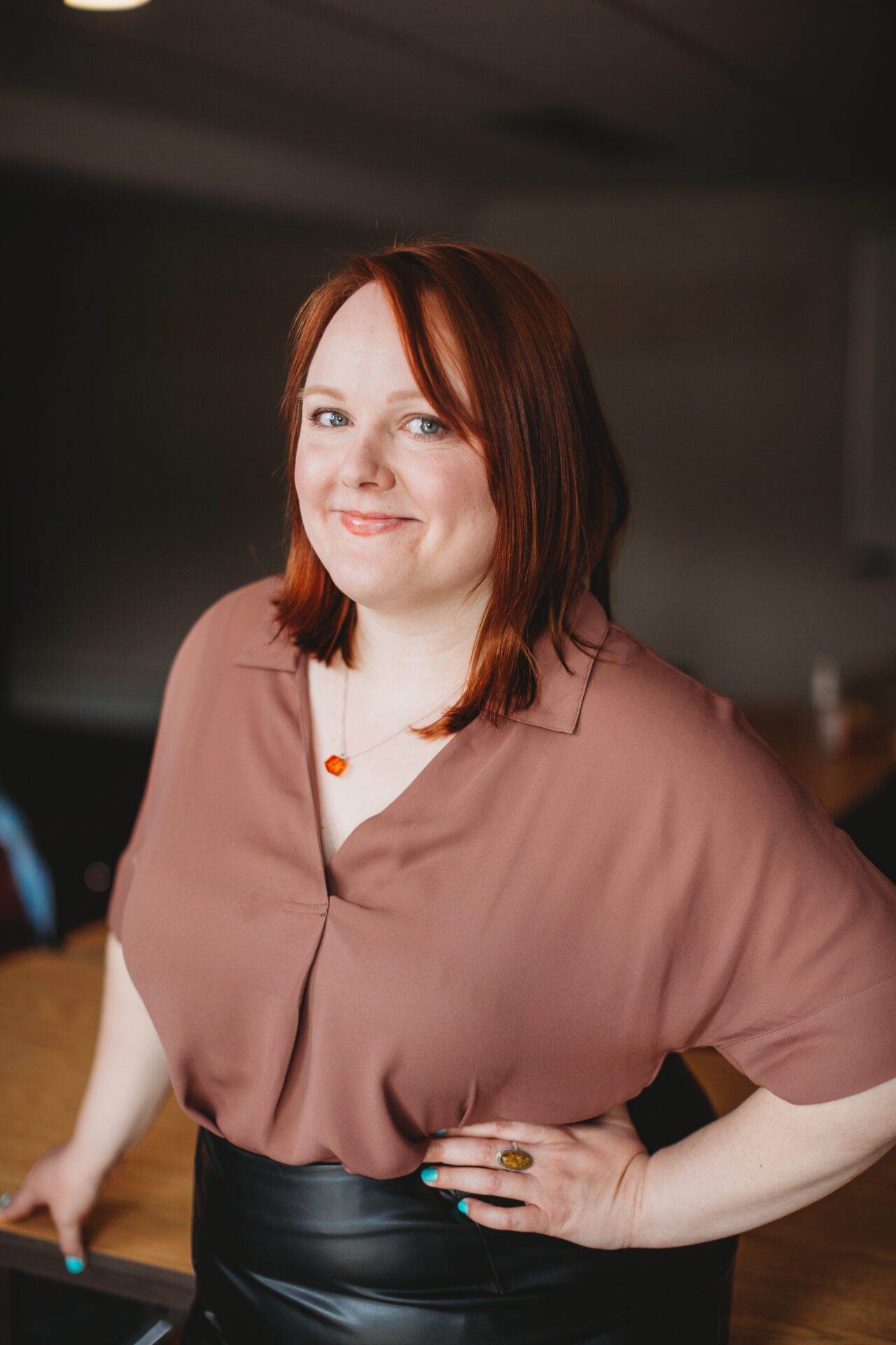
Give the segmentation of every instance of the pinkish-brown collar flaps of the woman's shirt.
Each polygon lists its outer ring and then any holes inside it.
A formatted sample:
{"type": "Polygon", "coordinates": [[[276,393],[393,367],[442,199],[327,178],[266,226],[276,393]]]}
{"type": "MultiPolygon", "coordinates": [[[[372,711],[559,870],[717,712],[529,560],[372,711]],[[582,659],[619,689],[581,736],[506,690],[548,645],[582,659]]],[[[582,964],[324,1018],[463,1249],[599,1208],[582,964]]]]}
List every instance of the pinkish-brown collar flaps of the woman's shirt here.
{"type": "MultiPolygon", "coordinates": [[[[265,617],[250,632],[238,648],[234,663],[239,667],[294,672],[298,667],[300,650],[293,644],[287,631],[281,631],[274,638],[277,627],[271,615],[265,613],[265,617]]],[[[572,624],[576,635],[591,646],[599,648],[606,639],[610,621],[603,605],[590,589],[583,592],[572,624]]],[[[579,710],[596,650],[582,652],[576,644],[566,640],[563,652],[570,667],[567,672],[556,655],[549,631],[544,629],[536,638],[532,652],[539,666],[540,694],[532,705],[514,710],[508,718],[519,720],[523,724],[535,724],[541,729],[555,729],[559,733],[572,733],[579,721],[579,710]]]]}

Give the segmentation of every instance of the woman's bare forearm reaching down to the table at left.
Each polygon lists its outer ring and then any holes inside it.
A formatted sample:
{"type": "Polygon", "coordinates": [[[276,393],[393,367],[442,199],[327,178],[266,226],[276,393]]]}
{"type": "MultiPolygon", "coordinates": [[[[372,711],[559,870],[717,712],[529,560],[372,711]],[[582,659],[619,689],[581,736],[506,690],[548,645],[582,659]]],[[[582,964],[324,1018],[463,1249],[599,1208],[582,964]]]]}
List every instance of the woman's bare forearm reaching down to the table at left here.
{"type": "Polygon", "coordinates": [[[149,1128],[168,1095],[168,1063],[146,1006],[109,931],[99,1028],[71,1147],[110,1171],[149,1128]]]}

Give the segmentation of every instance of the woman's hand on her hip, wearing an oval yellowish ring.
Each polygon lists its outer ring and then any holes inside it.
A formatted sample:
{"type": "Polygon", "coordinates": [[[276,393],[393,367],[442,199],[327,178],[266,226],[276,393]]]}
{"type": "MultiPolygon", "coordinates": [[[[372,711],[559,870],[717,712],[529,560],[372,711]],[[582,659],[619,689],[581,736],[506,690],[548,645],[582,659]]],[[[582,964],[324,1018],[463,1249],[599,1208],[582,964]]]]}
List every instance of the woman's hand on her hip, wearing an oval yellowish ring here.
{"type": "Polygon", "coordinates": [[[647,1166],[625,1103],[579,1126],[482,1120],[430,1138],[423,1161],[438,1174],[427,1186],[525,1201],[492,1205],[467,1200],[467,1217],[486,1228],[547,1233],[583,1247],[634,1247],[638,1201],[647,1166]],[[516,1141],[532,1166],[508,1171],[500,1149],[516,1141]]]}

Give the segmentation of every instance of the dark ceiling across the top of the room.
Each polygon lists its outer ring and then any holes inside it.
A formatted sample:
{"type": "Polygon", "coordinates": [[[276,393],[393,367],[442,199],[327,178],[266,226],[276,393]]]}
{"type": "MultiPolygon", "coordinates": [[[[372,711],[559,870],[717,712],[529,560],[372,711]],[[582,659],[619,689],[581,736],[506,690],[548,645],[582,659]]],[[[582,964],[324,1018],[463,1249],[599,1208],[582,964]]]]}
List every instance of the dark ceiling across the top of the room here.
{"type": "Polygon", "coordinates": [[[0,164],[458,225],[549,190],[892,186],[891,0],[4,0],[0,164]]]}

